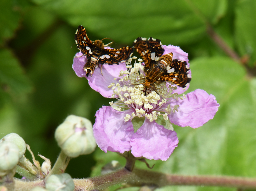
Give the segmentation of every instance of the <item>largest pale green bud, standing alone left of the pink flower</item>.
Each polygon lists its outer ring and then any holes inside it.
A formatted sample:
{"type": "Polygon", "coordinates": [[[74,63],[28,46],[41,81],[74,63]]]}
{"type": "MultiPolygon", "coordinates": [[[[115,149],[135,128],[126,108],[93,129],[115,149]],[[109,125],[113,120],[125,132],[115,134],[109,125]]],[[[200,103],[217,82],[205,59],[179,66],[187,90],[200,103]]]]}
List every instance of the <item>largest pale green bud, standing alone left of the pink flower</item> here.
{"type": "Polygon", "coordinates": [[[91,121],[84,117],[68,116],[55,131],[55,139],[69,157],[90,154],[96,148],[91,121]]]}

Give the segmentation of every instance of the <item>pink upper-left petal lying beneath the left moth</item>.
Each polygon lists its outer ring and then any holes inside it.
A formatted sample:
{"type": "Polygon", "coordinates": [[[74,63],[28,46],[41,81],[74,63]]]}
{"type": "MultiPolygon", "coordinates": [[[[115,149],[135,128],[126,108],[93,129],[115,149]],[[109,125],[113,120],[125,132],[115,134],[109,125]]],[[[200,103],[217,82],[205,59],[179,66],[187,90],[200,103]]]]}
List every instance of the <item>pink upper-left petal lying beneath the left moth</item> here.
{"type": "MultiPolygon", "coordinates": [[[[74,63],[72,65],[75,74],[78,77],[86,77],[85,71],[83,69],[84,64],[87,62],[86,56],[82,56],[83,54],[81,52],[77,53],[74,57],[74,63]],[[78,57],[82,56],[82,57],[78,57]]],[[[113,94],[113,90],[111,88],[108,88],[111,83],[115,82],[113,79],[117,78],[116,82],[119,82],[120,80],[119,72],[121,70],[126,70],[125,63],[120,63],[119,65],[113,64],[113,65],[107,65],[103,64],[102,66],[102,74],[101,74],[101,65],[97,67],[94,70],[94,74],[91,76],[89,74],[86,79],[88,80],[89,85],[92,89],[95,91],[98,91],[102,96],[106,98],[111,98],[113,94]]],[[[119,82],[120,83],[120,82],[119,82]]],[[[123,85],[121,82],[120,85],[123,85]]]]}

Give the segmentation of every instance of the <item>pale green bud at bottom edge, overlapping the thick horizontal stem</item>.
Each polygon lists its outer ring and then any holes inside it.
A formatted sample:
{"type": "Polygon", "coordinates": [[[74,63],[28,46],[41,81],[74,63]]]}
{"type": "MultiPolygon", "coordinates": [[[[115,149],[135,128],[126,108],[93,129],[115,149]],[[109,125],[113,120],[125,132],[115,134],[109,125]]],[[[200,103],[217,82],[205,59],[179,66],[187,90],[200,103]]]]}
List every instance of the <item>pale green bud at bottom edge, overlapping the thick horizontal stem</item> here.
{"type": "Polygon", "coordinates": [[[45,188],[49,191],[73,191],[75,185],[69,174],[54,174],[47,179],[45,188]]]}

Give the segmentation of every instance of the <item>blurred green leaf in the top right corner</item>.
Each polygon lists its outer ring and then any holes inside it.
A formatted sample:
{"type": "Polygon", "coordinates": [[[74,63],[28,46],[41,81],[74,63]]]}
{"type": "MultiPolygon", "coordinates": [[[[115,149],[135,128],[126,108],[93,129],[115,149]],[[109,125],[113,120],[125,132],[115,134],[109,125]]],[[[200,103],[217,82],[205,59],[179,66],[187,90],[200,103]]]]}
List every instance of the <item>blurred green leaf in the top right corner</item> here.
{"type": "Polygon", "coordinates": [[[241,56],[250,56],[250,65],[256,62],[256,1],[237,1],[235,8],[235,38],[241,56]]]}

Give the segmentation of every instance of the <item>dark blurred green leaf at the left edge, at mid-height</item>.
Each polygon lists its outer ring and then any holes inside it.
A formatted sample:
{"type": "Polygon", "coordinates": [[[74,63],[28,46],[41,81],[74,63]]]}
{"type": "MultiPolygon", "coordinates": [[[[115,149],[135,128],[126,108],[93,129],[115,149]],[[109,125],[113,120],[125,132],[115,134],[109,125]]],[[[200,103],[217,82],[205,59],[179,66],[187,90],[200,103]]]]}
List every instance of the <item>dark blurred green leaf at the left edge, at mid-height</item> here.
{"type": "Polygon", "coordinates": [[[30,92],[32,90],[31,82],[11,51],[1,49],[0,60],[0,84],[2,89],[16,98],[30,92]]]}

